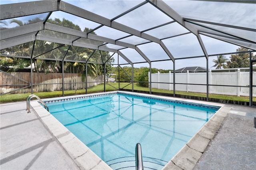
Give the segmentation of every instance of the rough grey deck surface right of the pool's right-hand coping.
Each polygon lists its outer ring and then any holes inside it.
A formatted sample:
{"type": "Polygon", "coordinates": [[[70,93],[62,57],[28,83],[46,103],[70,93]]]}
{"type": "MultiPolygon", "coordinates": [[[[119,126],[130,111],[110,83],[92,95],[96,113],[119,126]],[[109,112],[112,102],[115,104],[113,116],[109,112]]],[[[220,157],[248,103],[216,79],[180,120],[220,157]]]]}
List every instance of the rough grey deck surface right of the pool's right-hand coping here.
{"type": "Polygon", "coordinates": [[[255,107],[231,106],[244,115],[228,114],[195,170],[256,170],[255,107]]]}

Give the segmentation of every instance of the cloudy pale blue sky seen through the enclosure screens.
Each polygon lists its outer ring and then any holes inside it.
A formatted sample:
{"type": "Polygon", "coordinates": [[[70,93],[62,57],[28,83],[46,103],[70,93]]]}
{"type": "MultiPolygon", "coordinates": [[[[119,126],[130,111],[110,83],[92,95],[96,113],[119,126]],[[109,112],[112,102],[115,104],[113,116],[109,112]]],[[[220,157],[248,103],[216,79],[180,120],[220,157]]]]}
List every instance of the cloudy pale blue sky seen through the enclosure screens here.
{"type": "MultiPolygon", "coordinates": [[[[0,4],[27,1],[31,0],[0,0],[0,4]]],[[[143,2],[143,0],[64,0],[64,2],[79,6],[80,8],[83,8],[90,12],[104,16],[105,18],[112,19],[119,14],[122,14],[126,10],[136,6],[137,4],[140,4],[141,2],[143,2]]],[[[184,18],[194,18],[197,20],[206,20],[221,24],[256,29],[256,4],[204,2],[194,0],[164,0],[164,2],[170,5],[172,9],[174,9],[184,18]]],[[[40,15],[40,17],[44,18],[45,14],[40,15]]],[[[100,24],[98,23],[72,16],[65,12],[53,12],[50,18],[65,18],[72,21],[74,24],[79,25],[81,30],[84,30],[85,27],[96,28],[97,26],[100,26],[100,24]]],[[[24,18],[24,20],[28,19],[29,17],[24,18]]],[[[151,4],[147,3],[144,6],[116,19],[115,21],[136,30],[144,31],[148,28],[152,28],[166,22],[172,22],[173,20],[172,18],[157,10],[151,4]]],[[[15,25],[13,26],[15,27],[15,25]]],[[[256,40],[255,32],[249,32],[250,34],[248,34],[248,32],[244,31],[237,32],[238,29],[234,28],[223,28],[220,26],[214,26],[214,28],[231,32],[234,35],[242,34],[242,36],[248,40],[256,40]]],[[[104,26],[96,30],[95,32],[98,36],[104,36],[115,40],[129,35],[127,33],[114,30],[113,28],[108,28],[107,26],[104,26]]],[[[166,36],[175,36],[187,32],[188,30],[186,30],[184,27],[180,26],[177,23],[172,23],[156,30],[146,31],[145,33],[151,36],[155,36],[157,38],[164,38],[166,36]]],[[[202,36],[202,40],[204,42],[208,55],[235,52],[236,49],[240,47],[238,45],[222,42],[208,36],[202,36]]],[[[130,38],[126,38],[120,41],[134,44],[146,42],[146,40],[136,36],[132,36],[130,38]]],[[[194,34],[186,34],[183,36],[168,38],[162,40],[162,42],[164,42],[168,50],[175,58],[204,55],[200,44],[198,43],[198,40],[196,36],[194,36],[194,34]]],[[[107,46],[116,49],[120,48],[116,45],[110,44],[108,44],[107,46]]],[[[168,55],[157,43],[146,43],[138,45],[138,47],[150,60],[169,59],[168,55]]],[[[126,56],[132,55],[134,58],[131,59],[132,62],[145,61],[142,57],[138,55],[138,53],[136,53],[134,49],[122,49],[120,51],[126,56]]],[[[230,55],[225,56],[228,59],[230,57],[230,55]]],[[[212,62],[213,59],[216,59],[216,56],[209,57],[210,69],[215,69],[214,67],[212,67],[214,65],[214,63],[212,62]]],[[[175,69],[190,66],[206,67],[206,59],[205,57],[194,59],[180,59],[176,60],[175,65],[175,69]]],[[[148,64],[145,63],[134,65],[134,67],[141,66],[148,67],[148,64]]],[[[173,64],[172,61],[152,62],[152,67],[158,69],[173,69],[173,64]]]]}

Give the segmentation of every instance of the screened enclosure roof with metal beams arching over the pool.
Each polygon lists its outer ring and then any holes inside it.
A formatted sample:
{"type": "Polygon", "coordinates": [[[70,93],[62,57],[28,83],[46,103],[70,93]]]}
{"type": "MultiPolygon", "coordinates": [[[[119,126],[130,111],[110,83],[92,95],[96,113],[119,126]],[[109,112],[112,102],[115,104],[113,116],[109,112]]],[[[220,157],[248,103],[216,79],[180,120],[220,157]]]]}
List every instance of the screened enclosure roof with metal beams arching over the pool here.
{"type": "Polygon", "coordinates": [[[21,57],[88,62],[88,58],[44,55],[64,47],[82,47],[118,54],[131,65],[196,56],[208,58],[221,53],[220,47],[227,44],[256,50],[254,0],[4,2],[0,2],[2,56],[14,55],[3,49],[28,42],[32,42],[30,53],[21,57]],[[50,20],[55,18],[65,18],[80,30],[68,28],[69,24],[52,24],[50,20]],[[34,43],[37,41],[57,45],[39,50],[34,43]]]}

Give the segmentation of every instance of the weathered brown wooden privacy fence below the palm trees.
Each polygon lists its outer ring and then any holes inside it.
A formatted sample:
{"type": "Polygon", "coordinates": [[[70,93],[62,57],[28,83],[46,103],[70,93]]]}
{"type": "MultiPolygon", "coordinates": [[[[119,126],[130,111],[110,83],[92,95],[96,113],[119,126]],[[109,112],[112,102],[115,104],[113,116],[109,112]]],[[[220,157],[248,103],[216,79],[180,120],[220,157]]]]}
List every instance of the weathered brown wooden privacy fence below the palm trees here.
{"type": "MultiPolygon", "coordinates": [[[[85,89],[86,84],[82,82],[82,74],[64,73],[64,90],[85,89]]],[[[98,75],[96,79],[87,77],[87,87],[101,84],[104,81],[104,75],[98,75]]],[[[0,94],[8,93],[30,93],[31,87],[30,73],[25,72],[0,72],[0,94]],[[17,90],[19,88],[24,88],[17,90]],[[16,90],[16,91],[15,91],[16,90]]],[[[62,90],[62,73],[33,73],[33,92],[43,91],[61,91],[62,90]]]]}

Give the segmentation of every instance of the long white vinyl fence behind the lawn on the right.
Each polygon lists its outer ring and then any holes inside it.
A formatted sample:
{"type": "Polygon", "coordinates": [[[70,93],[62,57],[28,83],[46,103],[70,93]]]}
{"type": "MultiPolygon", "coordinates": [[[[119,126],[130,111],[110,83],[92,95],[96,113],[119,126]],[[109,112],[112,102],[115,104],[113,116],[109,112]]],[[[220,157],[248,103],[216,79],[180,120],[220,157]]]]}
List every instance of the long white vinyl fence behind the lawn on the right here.
{"type": "MultiPolygon", "coordinates": [[[[148,73],[150,75],[150,73],[148,73]]],[[[209,71],[209,93],[222,95],[249,96],[249,72],[214,72],[209,71]],[[214,85],[234,85],[248,87],[225,87],[214,85]]],[[[253,72],[253,85],[256,85],[256,72],[253,72]]],[[[148,76],[150,77],[150,76],[148,76]]],[[[152,88],[173,90],[173,73],[153,73],[151,74],[152,88]]],[[[150,82],[150,80],[148,80],[150,82]]],[[[175,73],[175,90],[206,93],[206,72],[202,73],[175,73]],[[183,85],[204,84],[204,85],[183,85]]],[[[253,97],[256,97],[256,87],[252,89],[253,97]]]]}

